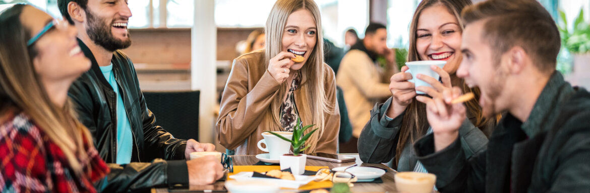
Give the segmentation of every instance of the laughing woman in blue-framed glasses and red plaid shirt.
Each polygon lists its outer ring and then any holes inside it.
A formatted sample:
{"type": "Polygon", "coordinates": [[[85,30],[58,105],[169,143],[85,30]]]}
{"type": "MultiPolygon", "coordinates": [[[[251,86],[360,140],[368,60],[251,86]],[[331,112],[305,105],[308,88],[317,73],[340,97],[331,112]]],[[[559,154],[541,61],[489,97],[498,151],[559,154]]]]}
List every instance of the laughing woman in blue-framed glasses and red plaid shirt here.
{"type": "Polygon", "coordinates": [[[18,4],[0,14],[0,192],[96,192],[109,168],[67,91],[90,68],[76,29],[18,4]]]}

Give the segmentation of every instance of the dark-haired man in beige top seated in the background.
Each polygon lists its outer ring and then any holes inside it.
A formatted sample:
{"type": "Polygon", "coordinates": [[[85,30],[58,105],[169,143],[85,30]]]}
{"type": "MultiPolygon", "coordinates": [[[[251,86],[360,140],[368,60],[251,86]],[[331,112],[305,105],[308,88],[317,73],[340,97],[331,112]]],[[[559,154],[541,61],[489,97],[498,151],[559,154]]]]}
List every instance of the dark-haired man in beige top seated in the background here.
{"type": "MultiPolygon", "coordinates": [[[[346,53],[336,75],[336,83],[342,87],[342,93],[348,107],[352,124],[354,147],[363,126],[371,118],[369,111],[380,99],[391,96],[389,84],[382,83],[386,73],[378,61],[385,58],[386,66],[394,64],[394,52],[387,48],[387,31],[385,25],[371,23],[365,30],[365,39],[356,42],[346,53]]],[[[347,147],[348,148],[348,147],[347,147]]],[[[352,147],[351,147],[352,148],[352,147]]],[[[342,149],[350,151],[350,149],[342,149]]]]}

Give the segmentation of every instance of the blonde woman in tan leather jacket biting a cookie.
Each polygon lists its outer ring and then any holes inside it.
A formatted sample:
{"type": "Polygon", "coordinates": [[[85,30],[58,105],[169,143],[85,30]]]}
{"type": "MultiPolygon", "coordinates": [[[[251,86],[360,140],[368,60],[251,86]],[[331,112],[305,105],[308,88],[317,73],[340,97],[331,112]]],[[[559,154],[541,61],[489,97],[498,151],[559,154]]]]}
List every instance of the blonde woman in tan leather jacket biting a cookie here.
{"type": "Polygon", "coordinates": [[[340,114],[334,72],[323,62],[320,17],[313,0],[274,4],[265,49],[234,60],[221,97],[216,127],[225,148],[237,155],[263,153],[257,147],[262,132],[293,131],[300,118],[319,128],[306,153],[336,153],[340,114]]]}

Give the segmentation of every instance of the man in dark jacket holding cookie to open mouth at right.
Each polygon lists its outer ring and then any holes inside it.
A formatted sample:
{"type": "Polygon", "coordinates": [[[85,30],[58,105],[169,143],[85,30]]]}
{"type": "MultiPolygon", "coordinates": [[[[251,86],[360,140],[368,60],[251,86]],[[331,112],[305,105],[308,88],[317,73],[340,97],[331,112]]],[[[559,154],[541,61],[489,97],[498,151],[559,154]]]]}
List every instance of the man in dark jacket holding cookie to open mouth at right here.
{"type": "Polygon", "coordinates": [[[447,89],[427,104],[434,133],[414,147],[441,192],[586,192],[590,189],[590,94],[555,70],[555,21],[534,0],[490,0],[463,11],[457,75],[481,89],[487,116],[507,111],[487,150],[467,160],[457,129],[465,107],[447,89]]]}

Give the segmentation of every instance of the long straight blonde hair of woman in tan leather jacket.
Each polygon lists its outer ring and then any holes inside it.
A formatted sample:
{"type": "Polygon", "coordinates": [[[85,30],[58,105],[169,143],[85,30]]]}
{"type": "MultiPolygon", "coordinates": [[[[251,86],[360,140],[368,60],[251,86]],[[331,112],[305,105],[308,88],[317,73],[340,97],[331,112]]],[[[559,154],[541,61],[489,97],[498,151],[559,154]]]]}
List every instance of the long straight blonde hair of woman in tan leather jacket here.
{"type": "MultiPolygon", "coordinates": [[[[323,51],[323,35],[322,35],[322,20],[320,9],[313,0],[278,0],[273,9],[271,9],[268,19],[266,21],[266,67],[271,58],[281,52],[282,38],[287,23],[287,18],[291,13],[299,10],[307,9],[311,12],[316,21],[317,41],[312,53],[301,71],[301,85],[299,86],[301,94],[298,95],[301,101],[297,104],[297,110],[300,112],[301,121],[304,125],[315,124],[313,128],[319,128],[312,137],[306,142],[311,145],[306,152],[314,152],[317,147],[319,138],[324,133],[325,120],[324,113],[334,114],[335,104],[330,104],[326,97],[324,85],[326,78],[324,77],[324,51],[323,51]],[[312,116],[309,116],[312,115],[312,116]]],[[[283,83],[278,89],[280,97],[274,98],[271,102],[270,111],[266,114],[266,126],[271,131],[279,131],[280,127],[280,107],[282,104],[283,94],[287,92],[287,84],[283,83]]],[[[309,132],[311,129],[308,129],[309,132]]]]}

